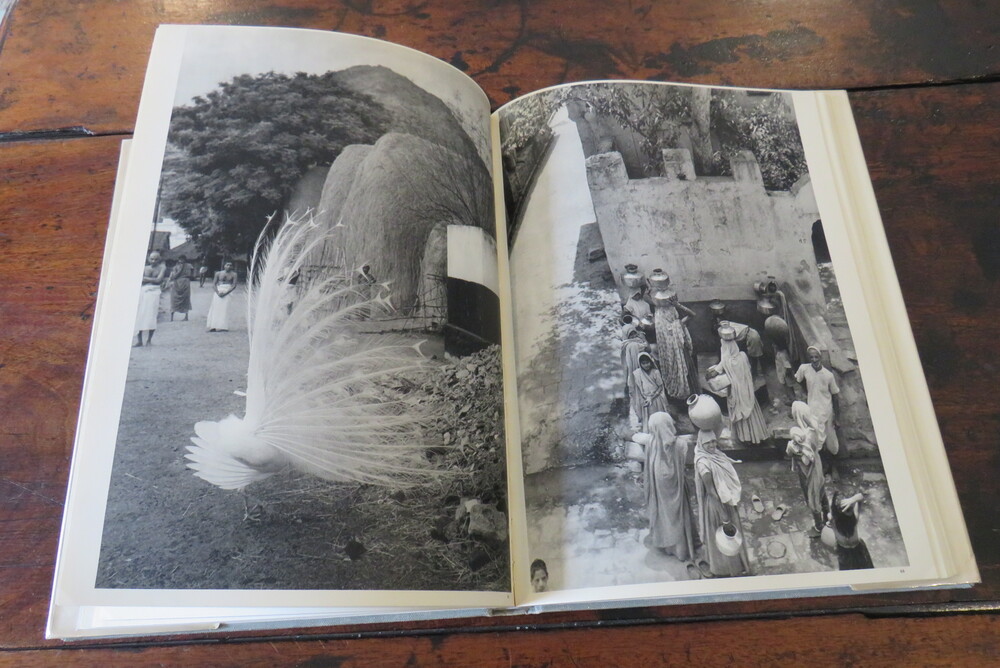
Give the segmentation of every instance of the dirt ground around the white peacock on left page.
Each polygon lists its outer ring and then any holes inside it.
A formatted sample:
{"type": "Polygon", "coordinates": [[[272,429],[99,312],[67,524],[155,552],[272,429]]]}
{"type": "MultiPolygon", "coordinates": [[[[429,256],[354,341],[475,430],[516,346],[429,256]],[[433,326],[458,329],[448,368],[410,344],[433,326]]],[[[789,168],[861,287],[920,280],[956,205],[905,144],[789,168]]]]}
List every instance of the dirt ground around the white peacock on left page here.
{"type": "MultiPolygon", "coordinates": [[[[506,510],[495,489],[476,489],[489,485],[471,459],[442,463],[464,470],[406,493],[295,472],[225,491],[186,468],[195,422],[243,413],[245,288],[233,299],[230,331],[207,332],[211,289],[195,282],[190,320],[161,317],[153,345],[132,349],[97,586],[508,590],[506,543],[441,529],[477,492],[506,510]]],[[[492,437],[484,457],[502,462],[490,411],[479,423],[492,437]]]]}

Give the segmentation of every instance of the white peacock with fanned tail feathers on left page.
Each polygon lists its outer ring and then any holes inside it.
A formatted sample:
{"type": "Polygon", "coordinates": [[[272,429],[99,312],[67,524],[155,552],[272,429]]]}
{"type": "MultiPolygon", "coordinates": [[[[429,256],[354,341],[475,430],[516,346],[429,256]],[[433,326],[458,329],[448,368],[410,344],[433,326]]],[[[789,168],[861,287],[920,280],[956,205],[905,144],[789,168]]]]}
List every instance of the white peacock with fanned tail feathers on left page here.
{"type": "Polygon", "coordinates": [[[285,467],[387,487],[438,474],[424,455],[429,404],[397,387],[429,360],[401,337],[358,333],[359,319],[390,308],[384,295],[343,275],[307,276],[325,239],[319,229],[311,215],[289,218],[270,243],[268,229],[257,241],[246,413],[199,422],[188,446],[188,467],[224,489],[285,467]]]}

